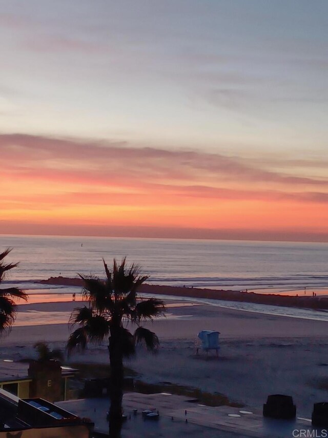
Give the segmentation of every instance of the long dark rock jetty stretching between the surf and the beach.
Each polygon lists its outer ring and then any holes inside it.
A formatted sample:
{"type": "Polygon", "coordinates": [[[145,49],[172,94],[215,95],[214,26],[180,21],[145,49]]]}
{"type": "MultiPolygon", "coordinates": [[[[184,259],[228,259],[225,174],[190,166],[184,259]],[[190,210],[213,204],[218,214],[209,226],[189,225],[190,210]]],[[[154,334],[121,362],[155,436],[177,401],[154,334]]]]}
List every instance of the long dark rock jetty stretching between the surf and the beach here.
{"type": "MultiPolygon", "coordinates": [[[[39,284],[55,284],[63,286],[83,287],[83,280],[69,277],[50,277],[45,280],[35,281],[39,284]]],[[[270,306],[293,307],[303,309],[328,310],[328,298],[324,296],[293,296],[278,294],[259,294],[256,292],[186,288],[158,284],[141,284],[139,293],[154,295],[171,295],[177,297],[205,298],[225,301],[241,301],[270,306]]]]}

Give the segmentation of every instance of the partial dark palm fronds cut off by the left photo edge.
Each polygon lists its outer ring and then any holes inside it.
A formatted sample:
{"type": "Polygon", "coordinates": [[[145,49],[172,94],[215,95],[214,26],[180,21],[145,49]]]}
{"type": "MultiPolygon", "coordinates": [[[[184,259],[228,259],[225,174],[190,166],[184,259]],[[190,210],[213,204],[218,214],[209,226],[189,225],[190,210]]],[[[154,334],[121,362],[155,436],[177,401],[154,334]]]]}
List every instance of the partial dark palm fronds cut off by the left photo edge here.
{"type": "MultiPolygon", "coordinates": [[[[0,285],[5,279],[8,271],[16,268],[18,263],[4,262],[4,258],[10,253],[11,248],[7,248],[0,253],[0,285]]],[[[8,333],[16,319],[16,299],[27,301],[27,294],[18,288],[0,289],[0,335],[8,333]]]]}

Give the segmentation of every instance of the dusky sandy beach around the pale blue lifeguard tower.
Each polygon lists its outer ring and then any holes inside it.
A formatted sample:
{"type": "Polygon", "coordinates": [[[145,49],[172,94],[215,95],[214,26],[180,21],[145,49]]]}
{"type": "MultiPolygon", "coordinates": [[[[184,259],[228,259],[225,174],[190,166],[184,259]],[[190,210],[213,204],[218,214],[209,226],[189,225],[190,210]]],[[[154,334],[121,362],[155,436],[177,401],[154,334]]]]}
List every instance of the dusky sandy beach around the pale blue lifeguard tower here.
{"type": "MultiPolygon", "coordinates": [[[[139,351],[127,366],[149,383],[171,382],[208,392],[230,401],[260,408],[270,393],[293,395],[299,414],[310,415],[312,404],[327,399],[328,322],[264,315],[193,303],[167,301],[166,318],[145,323],[160,338],[158,354],[139,351]],[[195,355],[200,330],[218,330],[219,358],[195,355]]],[[[24,325],[29,314],[63,318],[80,302],[47,302],[19,306],[17,325],[1,340],[0,358],[33,357],[33,344],[44,340],[65,347],[69,334],[63,323],[24,325]]],[[[51,318],[48,321],[51,321],[51,318]]],[[[74,353],[68,363],[108,363],[107,346],[74,353]]]]}

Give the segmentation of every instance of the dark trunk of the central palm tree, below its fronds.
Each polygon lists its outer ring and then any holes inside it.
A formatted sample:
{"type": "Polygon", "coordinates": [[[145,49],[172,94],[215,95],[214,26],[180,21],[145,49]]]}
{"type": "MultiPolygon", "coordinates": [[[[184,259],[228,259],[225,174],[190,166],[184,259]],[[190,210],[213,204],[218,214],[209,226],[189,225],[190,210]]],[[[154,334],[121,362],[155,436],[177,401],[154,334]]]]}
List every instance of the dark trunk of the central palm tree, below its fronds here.
{"type": "Polygon", "coordinates": [[[120,438],[122,428],[122,398],[123,398],[123,355],[120,346],[119,329],[111,328],[109,341],[110,359],[110,408],[109,408],[109,436],[120,438]]]}

